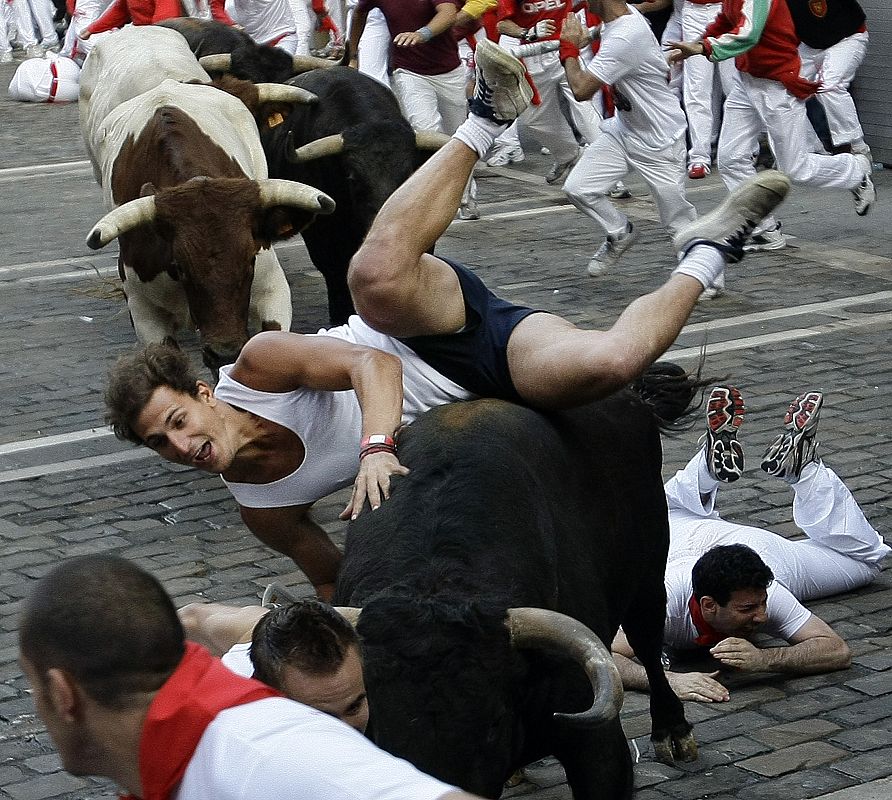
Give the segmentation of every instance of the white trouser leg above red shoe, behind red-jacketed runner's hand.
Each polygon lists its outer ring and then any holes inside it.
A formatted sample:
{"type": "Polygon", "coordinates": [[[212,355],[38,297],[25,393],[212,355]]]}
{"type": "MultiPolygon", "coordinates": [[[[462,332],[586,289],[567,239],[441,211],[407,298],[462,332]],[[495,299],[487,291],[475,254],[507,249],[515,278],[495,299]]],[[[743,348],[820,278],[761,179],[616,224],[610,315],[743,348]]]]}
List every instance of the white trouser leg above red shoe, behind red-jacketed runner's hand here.
{"type": "MultiPolygon", "coordinates": [[[[712,22],[721,3],[686,2],[681,10],[682,41],[697,41],[703,36],[706,26],[712,22]]],[[[688,115],[688,136],[691,147],[688,151],[689,164],[712,163],[713,129],[713,86],[716,65],[708,58],[689,58],[683,70],[684,110],[688,115]]]]}

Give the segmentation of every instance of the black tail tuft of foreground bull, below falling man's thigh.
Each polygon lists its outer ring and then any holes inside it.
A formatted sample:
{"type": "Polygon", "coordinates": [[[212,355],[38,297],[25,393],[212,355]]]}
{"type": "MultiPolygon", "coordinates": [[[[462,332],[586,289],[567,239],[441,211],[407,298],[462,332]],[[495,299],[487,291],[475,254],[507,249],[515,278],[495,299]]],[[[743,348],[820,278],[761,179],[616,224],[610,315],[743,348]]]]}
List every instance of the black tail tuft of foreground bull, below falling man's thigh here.
{"type": "Polygon", "coordinates": [[[723,382],[722,378],[702,376],[705,359],[704,351],[696,372],[688,372],[671,361],[657,361],[632,384],[632,389],[650,406],[661,432],[685,431],[693,427],[703,405],[704,389],[723,382]]]}

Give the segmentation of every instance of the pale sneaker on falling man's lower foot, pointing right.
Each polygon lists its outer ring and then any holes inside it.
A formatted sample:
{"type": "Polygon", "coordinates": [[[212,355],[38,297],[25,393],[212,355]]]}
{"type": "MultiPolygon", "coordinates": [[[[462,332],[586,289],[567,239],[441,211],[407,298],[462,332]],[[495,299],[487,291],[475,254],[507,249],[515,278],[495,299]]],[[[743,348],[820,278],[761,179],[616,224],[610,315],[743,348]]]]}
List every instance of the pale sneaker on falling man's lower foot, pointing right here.
{"type": "Polygon", "coordinates": [[[743,258],[743,245],[756,227],[790,191],[790,179],[777,170],[759,172],[744,181],[712,211],[682,228],[672,239],[676,252],[687,253],[694,245],[709,244],[720,250],[728,263],[743,258]]]}

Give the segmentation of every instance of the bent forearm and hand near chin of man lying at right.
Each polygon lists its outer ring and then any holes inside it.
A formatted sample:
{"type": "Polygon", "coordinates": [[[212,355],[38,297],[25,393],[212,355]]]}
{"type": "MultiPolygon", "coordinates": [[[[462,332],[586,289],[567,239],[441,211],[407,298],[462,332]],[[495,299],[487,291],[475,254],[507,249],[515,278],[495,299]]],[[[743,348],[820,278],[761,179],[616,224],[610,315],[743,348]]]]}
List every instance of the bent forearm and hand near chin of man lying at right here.
{"type": "Polygon", "coordinates": [[[813,675],[846,669],[852,653],[843,639],[820,617],[812,614],[789,647],[758,648],[746,639],[723,639],[710,652],[722,664],[743,672],[782,672],[813,675]]]}

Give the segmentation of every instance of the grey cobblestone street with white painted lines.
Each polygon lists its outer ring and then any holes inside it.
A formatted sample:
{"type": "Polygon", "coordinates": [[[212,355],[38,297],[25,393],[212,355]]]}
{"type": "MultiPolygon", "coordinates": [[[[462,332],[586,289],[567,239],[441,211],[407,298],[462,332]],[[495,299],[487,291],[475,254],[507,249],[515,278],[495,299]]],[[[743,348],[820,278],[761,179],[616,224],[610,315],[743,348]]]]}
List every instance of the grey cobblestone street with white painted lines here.
{"type": "MultiPolygon", "coordinates": [[[[8,85],[14,64],[0,65],[8,85]]],[[[117,245],[84,239],[103,213],[86,161],[76,104],[0,97],[0,798],[94,800],[110,784],[65,773],[36,717],[17,663],[17,618],[34,581],[60,560],[115,552],[157,575],[176,604],[258,602],[273,578],[309,594],[289,559],[242,524],[219,478],[120,443],[102,423],[104,374],[133,347],[117,279],[117,245]]],[[[600,278],[585,266],[602,235],[543,175],[535,153],[510,168],[479,168],[482,219],[457,221],[438,253],[473,268],[514,302],[608,326],[672,268],[669,239],[644,185],[617,201],[640,230],[621,264],[600,278]]],[[[727,292],[701,303],[668,357],[727,376],[748,408],[748,456],[722,490],[730,519],[795,536],[789,486],[759,470],[787,404],[825,393],[820,453],[892,543],[892,172],[874,173],[879,200],[857,217],[847,191],[794,188],[778,217],[783,250],[729,268],[727,292]]],[[[723,195],[717,171],[689,182],[702,212],[723,195]]],[[[276,248],[292,286],[293,329],[327,323],[325,288],[299,239],[276,248]]],[[[196,340],[186,346],[200,363],[196,340]]],[[[699,426],[664,440],[670,477],[697,447],[699,426]]],[[[343,542],[346,491],[315,517],[343,542]]],[[[872,585],[809,607],[849,643],[850,669],[828,675],[729,677],[731,700],[686,703],[700,744],[692,764],[654,761],[648,698],[626,695],[623,723],[636,800],[892,799],[892,570],[872,585]]],[[[533,765],[511,796],[569,800],[554,761],[533,765]]]]}

